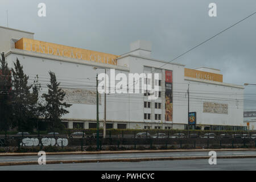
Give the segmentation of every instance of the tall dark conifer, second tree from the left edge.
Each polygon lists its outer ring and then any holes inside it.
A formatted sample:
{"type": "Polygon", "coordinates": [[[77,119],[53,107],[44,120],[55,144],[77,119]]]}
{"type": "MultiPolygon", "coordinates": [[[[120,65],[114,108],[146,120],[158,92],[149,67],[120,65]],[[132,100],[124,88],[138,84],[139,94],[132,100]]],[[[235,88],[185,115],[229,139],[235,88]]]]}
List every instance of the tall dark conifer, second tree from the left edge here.
{"type": "Polygon", "coordinates": [[[31,131],[33,125],[30,123],[31,112],[31,93],[32,85],[28,85],[28,76],[24,74],[23,67],[20,65],[18,58],[14,63],[13,72],[13,109],[14,109],[14,127],[18,126],[19,131],[31,131]]]}

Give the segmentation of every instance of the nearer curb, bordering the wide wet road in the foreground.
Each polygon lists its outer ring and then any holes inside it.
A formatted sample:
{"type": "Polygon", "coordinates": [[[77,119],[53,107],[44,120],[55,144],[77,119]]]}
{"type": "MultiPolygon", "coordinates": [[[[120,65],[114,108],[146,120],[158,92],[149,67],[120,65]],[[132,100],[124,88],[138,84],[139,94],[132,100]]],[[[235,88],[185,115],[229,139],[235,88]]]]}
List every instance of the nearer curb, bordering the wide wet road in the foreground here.
{"type": "MultiPolygon", "coordinates": [[[[256,155],[228,155],[218,156],[217,159],[245,159],[256,158],[256,155]]],[[[188,156],[188,157],[166,157],[166,158],[131,158],[131,159],[87,159],[87,160],[50,160],[46,164],[70,164],[70,163],[105,163],[105,162],[143,162],[154,160],[196,160],[209,159],[209,156],[188,156]]],[[[0,166],[21,166],[38,165],[38,162],[6,162],[0,163],[0,166]]]]}

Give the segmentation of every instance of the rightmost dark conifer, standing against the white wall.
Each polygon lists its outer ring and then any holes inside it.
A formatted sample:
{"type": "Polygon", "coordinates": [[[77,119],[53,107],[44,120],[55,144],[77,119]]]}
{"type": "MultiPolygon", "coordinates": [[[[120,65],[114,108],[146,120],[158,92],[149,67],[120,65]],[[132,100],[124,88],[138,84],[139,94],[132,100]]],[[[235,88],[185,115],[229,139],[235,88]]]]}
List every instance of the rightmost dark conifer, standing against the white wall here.
{"type": "Polygon", "coordinates": [[[65,92],[59,88],[60,82],[57,82],[55,73],[49,72],[51,77],[50,84],[47,84],[48,94],[43,94],[43,98],[46,100],[46,120],[51,122],[51,129],[61,129],[61,116],[69,113],[65,108],[72,106],[63,102],[65,92]]]}

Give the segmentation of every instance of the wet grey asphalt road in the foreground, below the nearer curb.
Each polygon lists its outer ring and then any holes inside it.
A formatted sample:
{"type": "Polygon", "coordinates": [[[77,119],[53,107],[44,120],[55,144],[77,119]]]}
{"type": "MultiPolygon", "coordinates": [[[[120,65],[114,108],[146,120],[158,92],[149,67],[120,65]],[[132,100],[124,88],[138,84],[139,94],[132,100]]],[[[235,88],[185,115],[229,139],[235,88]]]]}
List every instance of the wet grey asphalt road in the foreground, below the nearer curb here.
{"type": "Polygon", "coordinates": [[[26,166],[1,166],[0,170],[26,171],[169,171],[169,170],[198,170],[198,171],[236,171],[256,170],[256,158],[253,159],[217,159],[216,165],[209,165],[208,159],[200,160],[161,160],[148,162],[114,162],[114,163],[73,163],[46,164],[26,166]]]}

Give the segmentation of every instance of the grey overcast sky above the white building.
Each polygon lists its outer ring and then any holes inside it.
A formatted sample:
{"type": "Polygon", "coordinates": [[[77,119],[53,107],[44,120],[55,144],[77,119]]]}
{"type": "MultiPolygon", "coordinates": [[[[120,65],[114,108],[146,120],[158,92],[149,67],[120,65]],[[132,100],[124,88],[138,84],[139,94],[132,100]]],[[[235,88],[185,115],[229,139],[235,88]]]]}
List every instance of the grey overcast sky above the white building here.
{"type": "MultiPolygon", "coordinates": [[[[152,57],[172,60],[256,11],[255,0],[0,0],[0,26],[35,39],[121,55],[131,42],[152,42],[152,57]],[[46,3],[47,16],[38,16],[46,3]],[[217,17],[209,17],[209,3],[217,17]],[[246,2],[246,3],[245,3],[246,2]]],[[[256,15],[175,60],[187,68],[221,69],[224,82],[256,84],[256,15]]],[[[248,86],[245,93],[255,93],[248,86]]],[[[256,100],[256,98],[247,99],[256,100]]],[[[247,109],[256,107],[247,105],[247,109]]]]}

